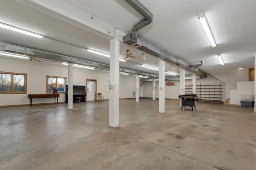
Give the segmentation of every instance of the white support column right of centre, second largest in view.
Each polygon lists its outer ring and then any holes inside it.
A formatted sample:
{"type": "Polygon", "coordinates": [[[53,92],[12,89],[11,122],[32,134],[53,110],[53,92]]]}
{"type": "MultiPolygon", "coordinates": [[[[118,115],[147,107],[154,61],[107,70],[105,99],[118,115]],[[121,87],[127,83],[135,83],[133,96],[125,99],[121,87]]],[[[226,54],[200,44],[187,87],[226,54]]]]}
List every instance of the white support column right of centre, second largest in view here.
{"type": "Polygon", "coordinates": [[[164,60],[159,61],[159,112],[164,113],[165,112],[165,71],[164,71],[164,60]]]}

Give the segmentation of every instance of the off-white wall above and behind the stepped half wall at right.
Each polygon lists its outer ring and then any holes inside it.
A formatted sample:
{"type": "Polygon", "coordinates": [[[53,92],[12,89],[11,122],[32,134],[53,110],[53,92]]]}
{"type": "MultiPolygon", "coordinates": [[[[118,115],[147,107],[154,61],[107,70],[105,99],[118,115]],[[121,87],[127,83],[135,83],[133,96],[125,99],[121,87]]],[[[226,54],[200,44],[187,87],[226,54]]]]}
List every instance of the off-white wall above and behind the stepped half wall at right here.
{"type": "Polygon", "coordinates": [[[211,73],[214,77],[226,83],[226,99],[230,97],[230,90],[236,90],[237,82],[248,81],[248,69],[232,70],[222,73],[211,73]]]}

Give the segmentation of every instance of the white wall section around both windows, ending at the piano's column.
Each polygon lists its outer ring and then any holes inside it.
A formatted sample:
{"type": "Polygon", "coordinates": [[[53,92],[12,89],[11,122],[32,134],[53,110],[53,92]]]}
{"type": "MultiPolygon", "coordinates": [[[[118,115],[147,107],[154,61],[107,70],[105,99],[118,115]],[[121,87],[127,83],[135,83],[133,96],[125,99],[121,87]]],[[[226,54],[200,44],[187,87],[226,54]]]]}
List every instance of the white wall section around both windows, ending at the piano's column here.
{"type": "MultiPolygon", "coordinates": [[[[66,67],[4,58],[0,58],[0,71],[27,73],[27,94],[0,94],[0,106],[30,104],[28,94],[46,94],[46,75],[67,77],[68,74],[66,67]]],[[[53,102],[55,98],[32,99],[35,104],[53,102]]],[[[64,102],[64,94],[60,94],[58,102],[64,102]]]]}

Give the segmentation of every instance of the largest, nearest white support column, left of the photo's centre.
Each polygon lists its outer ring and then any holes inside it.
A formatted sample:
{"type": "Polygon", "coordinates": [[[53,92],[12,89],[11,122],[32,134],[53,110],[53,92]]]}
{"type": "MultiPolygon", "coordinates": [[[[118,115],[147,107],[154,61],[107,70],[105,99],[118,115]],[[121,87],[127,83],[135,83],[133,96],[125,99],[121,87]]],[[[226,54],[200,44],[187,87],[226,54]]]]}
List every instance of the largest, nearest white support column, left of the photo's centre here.
{"type": "Polygon", "coordinates": [[[119,30],[110,40],[110,91],[109,91],[109,126],[119,126],[119,30]]]}

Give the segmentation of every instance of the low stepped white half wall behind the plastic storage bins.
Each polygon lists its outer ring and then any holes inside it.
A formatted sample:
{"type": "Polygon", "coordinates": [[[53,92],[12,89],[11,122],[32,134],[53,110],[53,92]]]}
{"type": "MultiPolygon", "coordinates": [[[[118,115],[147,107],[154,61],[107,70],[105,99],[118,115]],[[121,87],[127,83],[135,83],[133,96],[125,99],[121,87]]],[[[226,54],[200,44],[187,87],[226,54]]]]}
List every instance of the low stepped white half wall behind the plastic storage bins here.
{"type": "Polygon", "coordinates": [[[230,104],[240,105],[241,94],[254,95],[254,81],[237,82],[237,89],[230,90],[230,104]]]}

